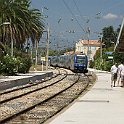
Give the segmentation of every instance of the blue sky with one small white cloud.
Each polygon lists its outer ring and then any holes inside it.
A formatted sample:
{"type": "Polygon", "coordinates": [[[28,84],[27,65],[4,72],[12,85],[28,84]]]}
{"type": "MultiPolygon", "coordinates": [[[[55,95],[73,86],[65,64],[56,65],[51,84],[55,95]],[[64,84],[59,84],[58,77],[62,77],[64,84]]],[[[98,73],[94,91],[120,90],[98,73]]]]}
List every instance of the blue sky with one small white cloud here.
{"type": "Polygon", "coordinates": [[[104,27],[116,30],[124,17],[124,0],[31,0],[31,7],[47,17],[50,47],[60,49],[79,39],[98,39],[104,27]]]}

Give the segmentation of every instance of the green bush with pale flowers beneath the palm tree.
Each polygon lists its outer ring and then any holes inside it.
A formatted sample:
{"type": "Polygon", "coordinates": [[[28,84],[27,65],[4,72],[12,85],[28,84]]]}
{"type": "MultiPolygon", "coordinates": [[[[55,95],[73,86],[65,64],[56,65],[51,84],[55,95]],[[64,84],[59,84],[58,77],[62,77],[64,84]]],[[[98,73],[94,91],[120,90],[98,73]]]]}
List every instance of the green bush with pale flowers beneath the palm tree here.
{"type": "Polygon", "coordinates": [[[31,67],[31,59],[27,54],[18,57],[6,55],[0,61],[0,74],[16,75],[16,73],[27,73],[31,67]]]}

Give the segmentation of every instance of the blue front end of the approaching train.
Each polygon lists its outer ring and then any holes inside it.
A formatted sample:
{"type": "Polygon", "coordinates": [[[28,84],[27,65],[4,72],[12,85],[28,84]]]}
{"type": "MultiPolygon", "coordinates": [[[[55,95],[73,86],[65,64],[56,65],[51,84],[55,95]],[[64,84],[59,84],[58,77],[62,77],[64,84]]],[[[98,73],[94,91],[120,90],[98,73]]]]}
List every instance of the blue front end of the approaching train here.
{"type": "Polygon", "coordinates": [[[88,59],[85,54],[74,56],[74,71],[79,73],[87,73],[88,59]]]}

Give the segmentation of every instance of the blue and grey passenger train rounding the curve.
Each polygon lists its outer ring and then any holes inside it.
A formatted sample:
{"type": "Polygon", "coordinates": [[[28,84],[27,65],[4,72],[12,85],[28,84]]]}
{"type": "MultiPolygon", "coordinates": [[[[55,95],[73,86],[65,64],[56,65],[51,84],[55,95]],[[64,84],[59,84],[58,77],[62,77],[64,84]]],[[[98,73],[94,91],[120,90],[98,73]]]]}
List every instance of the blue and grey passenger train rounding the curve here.
{"type": "Polygon", "coordinates": [[[54,67],[69,69],[75,73],[88,72],[88,57],[85,54],[49,56],[49,64],[54,67]]]}

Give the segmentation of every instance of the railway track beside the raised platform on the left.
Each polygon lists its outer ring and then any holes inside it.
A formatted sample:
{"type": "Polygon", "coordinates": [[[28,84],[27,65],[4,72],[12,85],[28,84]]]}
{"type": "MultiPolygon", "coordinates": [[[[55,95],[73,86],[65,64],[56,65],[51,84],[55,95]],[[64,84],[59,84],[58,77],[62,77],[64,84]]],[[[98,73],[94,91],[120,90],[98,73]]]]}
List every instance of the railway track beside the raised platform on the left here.
{"type": "Polygon", "coordinates": [[[47,80],[44,80],[35,84],[33,83],[24,87],[16,88],[14,90],[2,92],[0,94],[0,97],[1,97],[0,104],[25,96],[27,94],[30,94],[36,91],[39,91],[41,89],[47,88],[51,85],[54,85],[56,82],[63,80],[63,78],[65,78],[65,76],[62,76],[59,74],[57,76],[54,76],[52,78],[49,78],[47,80]]]}

